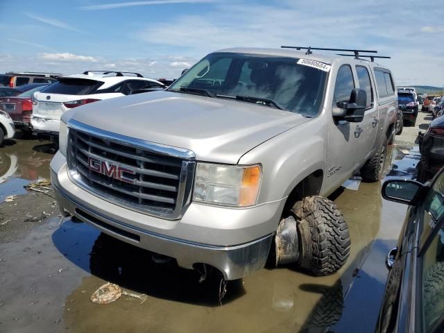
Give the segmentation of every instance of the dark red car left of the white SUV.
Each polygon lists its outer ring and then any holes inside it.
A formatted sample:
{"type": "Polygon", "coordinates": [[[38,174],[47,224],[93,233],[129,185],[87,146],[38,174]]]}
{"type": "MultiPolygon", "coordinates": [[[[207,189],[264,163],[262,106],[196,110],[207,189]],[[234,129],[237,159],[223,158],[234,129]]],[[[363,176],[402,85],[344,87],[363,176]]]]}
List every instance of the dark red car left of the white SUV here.
{"type": "Polygon", "coordinates": [[[26,90],[17,96],[0,97],[0,110],[8,112],[12,121],[14,121],[15,128],[19,128],[22,132],[31,132],[31,115],[33,114],[33,103],[31,99],[35,92],[40,92],[48,85],[31,83],[26,86],[31,86],[33,89],[26,90]]]}

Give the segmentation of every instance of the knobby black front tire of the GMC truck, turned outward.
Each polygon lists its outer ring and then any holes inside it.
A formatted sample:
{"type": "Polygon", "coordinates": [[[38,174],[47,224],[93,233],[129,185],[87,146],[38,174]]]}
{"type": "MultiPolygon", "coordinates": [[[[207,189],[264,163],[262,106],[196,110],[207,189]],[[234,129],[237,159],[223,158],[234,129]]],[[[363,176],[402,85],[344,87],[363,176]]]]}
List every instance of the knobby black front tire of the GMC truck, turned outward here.
{"type": "Polygon", "coordinates": [[[323,196],[309,196],[291,212],[298,221],[300,268],[318,276],[338,271],[350,255],[350,232],[338,207],[323,196]]]}

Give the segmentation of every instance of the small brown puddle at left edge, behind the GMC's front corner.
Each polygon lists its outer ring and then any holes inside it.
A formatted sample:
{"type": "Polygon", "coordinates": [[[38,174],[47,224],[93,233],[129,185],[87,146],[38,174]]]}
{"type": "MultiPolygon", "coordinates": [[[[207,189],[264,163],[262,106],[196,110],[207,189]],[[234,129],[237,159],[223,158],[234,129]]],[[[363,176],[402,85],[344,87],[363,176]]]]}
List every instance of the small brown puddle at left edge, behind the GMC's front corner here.
{"type": "Polygon", "coordinates": [[[49,179],[53,157],[49,142],[10,140],[0,148],[0,203],[6,196],[26,194],[30,182],[49,179]]]}

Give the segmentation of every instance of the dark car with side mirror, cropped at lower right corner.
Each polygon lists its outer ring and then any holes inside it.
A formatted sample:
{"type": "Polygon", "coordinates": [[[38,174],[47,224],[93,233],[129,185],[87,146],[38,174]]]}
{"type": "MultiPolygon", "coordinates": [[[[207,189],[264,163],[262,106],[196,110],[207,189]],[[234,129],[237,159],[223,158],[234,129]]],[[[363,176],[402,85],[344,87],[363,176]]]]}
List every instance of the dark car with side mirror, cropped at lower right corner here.
{"type": "Polygon", "coordinates": [[[444,332],[444,168],[431,182],[384,182],[386,200],[410,205],[390,270],[377,332],[444,332]]]}

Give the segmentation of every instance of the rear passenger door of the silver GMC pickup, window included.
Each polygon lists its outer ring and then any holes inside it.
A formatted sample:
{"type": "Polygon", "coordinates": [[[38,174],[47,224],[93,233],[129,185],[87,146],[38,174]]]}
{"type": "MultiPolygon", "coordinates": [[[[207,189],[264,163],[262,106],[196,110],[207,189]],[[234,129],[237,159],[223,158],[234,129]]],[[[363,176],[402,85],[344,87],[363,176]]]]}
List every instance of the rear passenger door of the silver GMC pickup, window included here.
{"type": "Polygon", "coordinates": [[[356,65],[358,84],[360,89],[367,93],[366,112],[364,119],[356,123],[355,137],[358,138],[359,149],[355,161],[355,169],[366,162],[373,155],[373,147],[377,135],[377,123],[379,122],[378,105],[375,105],[375,85],[370,78],[370,71],[364,65],[356,65]]]}

